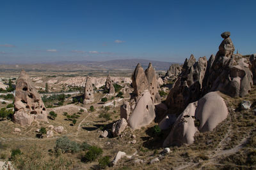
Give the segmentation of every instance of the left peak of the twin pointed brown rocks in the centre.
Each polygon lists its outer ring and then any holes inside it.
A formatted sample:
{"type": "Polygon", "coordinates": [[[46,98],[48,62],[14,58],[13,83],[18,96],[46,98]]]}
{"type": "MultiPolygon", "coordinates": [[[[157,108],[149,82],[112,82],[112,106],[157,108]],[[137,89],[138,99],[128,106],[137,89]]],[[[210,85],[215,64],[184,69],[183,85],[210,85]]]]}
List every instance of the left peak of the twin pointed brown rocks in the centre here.
{"type": "Polygon", "coordinates": [[[132,87],[135,96],[141,96],[142,92],[149,88],[147,77],[140,64],[136,66],[136,69],[132,74],[132,87]]]}

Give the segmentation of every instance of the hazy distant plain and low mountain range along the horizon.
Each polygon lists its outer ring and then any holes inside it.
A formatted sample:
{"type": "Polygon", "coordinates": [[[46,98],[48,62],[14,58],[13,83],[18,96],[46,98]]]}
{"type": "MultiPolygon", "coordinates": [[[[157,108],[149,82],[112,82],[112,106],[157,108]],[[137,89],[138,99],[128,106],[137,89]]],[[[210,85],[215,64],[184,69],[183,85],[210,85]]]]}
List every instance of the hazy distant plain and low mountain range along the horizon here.
{"type": "Polygon", "coordinates": [[[108,61],[60,61],[41,62],[35,64],[1,64],[0,69],[26,69],[40,71],[80,71],[80,70],[125,70],[134,69],[138,63],[146,69],[151,62],[157,71],[166,71],[171,64],[176,62],[163,62],[145,59],[122,59],[108,61]]]}

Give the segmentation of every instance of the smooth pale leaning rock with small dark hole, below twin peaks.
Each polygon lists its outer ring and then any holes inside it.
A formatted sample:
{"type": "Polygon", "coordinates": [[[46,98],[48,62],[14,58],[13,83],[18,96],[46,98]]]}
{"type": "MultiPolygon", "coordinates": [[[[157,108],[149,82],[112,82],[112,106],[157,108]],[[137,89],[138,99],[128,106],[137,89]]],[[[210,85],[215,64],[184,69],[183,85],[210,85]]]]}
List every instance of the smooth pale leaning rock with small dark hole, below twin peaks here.
{"type": "Polygon", "coordinates": [[[145,90],[141,95],[142,97],[128,120],[132,129],[140,129],[140,127],[150,124],[156,117],[155,106],[150,92],[145,90]]]}

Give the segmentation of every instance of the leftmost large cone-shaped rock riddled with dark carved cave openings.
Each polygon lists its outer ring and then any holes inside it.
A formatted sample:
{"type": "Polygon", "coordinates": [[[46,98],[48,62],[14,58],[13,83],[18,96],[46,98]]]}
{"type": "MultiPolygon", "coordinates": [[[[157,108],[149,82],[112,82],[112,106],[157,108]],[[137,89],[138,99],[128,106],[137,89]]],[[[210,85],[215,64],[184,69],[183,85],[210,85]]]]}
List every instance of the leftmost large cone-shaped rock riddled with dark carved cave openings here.
{"type": "Polygon", "coordinates": [[[28,74],[21,71],[17,80],[13,120],[20,125],[31,125],[35,120],[47,121],[47,111],[40,94],[28,74]]]}

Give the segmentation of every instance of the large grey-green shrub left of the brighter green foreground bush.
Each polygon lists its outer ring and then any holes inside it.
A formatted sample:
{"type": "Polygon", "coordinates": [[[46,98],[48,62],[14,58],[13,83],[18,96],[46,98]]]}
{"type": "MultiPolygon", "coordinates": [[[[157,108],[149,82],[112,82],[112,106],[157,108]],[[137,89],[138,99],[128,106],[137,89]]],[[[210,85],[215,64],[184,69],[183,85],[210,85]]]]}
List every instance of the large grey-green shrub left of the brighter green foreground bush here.
{"type": "Polygon", "coordinates": [[[60,137],[56,140],[55,151],[76,153],[80,151],[80,146],[75,141],[70,141],[67,136],[60,137]]]}

